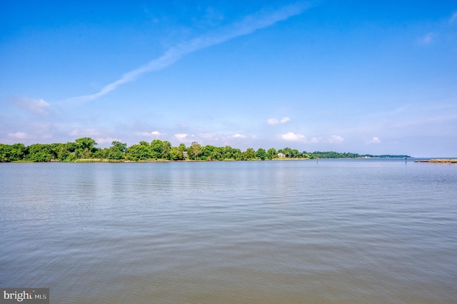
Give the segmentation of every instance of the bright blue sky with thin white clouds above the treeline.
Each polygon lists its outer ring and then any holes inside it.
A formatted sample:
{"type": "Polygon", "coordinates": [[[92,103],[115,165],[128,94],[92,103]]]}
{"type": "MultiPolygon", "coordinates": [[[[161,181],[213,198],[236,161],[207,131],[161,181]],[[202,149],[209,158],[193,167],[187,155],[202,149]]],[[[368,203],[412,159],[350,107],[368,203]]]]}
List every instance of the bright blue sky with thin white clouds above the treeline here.
{"type": "Polygon", "coordinates": [[[2,1],[0,143],[457,157],[457,1],[2,1]]]}

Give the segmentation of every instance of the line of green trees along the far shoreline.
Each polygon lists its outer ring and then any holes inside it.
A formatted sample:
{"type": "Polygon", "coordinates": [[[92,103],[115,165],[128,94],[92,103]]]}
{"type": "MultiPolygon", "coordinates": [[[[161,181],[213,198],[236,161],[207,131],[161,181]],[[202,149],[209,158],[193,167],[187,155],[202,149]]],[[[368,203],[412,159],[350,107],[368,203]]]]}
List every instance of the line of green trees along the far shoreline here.
{"type": "Polygon", "coordinates": [[[409,157],[409,156],[369,156],[355,153],[337,152],[300,152],[296,149],[283,148],[248,148],[241,151],[231,146],[216,147],[211,145],[201,146],[192,143],[186,147],[184,143],[171,146],[169,141],[154,139],[151,143],[140,141],[127,147],[126,143],[113,141],[109,148],[97,148],[97,143],[90,137],[78,138],[68,143],[34,143],[24,146],[23,143],[6,145],[0,143],[0,162],[11,161],[66,161],[72,162],[79,159],[107,159],[115,161],[251,161],[273,158],[360,158],[360,157],[409,157]]]}

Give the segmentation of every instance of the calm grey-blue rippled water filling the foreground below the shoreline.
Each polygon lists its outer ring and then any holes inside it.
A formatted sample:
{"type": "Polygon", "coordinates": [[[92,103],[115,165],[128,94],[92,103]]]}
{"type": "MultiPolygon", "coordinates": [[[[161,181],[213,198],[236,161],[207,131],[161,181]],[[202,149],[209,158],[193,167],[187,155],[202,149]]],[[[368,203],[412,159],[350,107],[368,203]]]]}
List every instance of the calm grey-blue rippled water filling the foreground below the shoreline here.
{"type": "Polygon", "coordinates": [[[51,303],[456,303],[457,166],[1,163],[0,286],[51,303]]]}

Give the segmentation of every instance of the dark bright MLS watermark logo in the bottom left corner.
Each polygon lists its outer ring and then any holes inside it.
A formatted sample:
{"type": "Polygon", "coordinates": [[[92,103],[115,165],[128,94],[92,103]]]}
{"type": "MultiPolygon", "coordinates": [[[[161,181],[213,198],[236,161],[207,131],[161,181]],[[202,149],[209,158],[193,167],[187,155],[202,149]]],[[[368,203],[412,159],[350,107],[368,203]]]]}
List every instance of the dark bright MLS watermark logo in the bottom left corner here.
{"type": "Polygon", "coordinates": [[[0,288],[0,304],[49,304],[49,288],[0,288]]]}

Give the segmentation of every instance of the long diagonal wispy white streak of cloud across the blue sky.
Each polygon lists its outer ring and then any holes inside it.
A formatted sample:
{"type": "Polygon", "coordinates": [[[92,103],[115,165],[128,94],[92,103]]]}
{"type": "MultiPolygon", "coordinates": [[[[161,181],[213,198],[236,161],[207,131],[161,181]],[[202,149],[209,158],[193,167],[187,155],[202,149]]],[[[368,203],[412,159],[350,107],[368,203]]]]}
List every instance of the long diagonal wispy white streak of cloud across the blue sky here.
{"type": "Polygon", "coordinates": [[[275,11],[258,11],[256,14],[246,16],[242,21],[230,24],[229,26],[223,26],[209,34],[191,39],[190,41],[186,41],[168,49],[159,58],[149,61],[148,64],[140,66],[133,71],[129,71],[118,80],[107,84],[101,88],[98,93],[70,98],[69,101],[91,101],[97,99],[114,91],[118,86],[121,86],[124,83],[136,80],[141,74],[159,71],[171,66],[171,64],[174,64],[186,54],[209,46],[214,46],[215,44],[221,44],[239,36],[251,34],[258,29],[266,28],[276,24],[278,21],[286,20],[291,16],[301,14],[306,8],[307,6],[304,4],[291,4],[275,11]]]}

